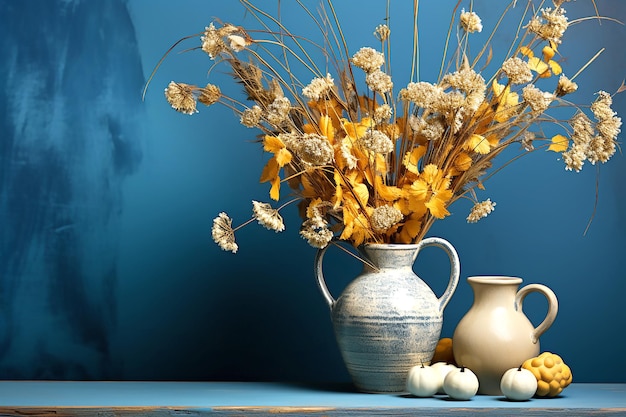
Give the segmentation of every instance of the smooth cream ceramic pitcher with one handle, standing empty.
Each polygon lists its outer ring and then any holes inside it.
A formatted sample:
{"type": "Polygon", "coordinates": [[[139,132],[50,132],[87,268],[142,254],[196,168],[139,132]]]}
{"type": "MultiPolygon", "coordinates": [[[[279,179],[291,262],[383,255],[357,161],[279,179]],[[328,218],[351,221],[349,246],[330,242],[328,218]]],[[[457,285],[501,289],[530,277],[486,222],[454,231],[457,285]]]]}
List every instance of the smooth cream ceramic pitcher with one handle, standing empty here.
{"type": "Polygon", "coordinates": [[[479,393],[500,395],[504,372],[539,354],[539,336],[554,322],[558,301],[545,285],[530,284],[518,291],[521,278],[475,276],[467,281],[474,303],[454,331],[454,359],[478,376],[479,393]],[[522,311],[522,302],[531,292],[548,299],[548,312],[537,327],[522,311]]]}

